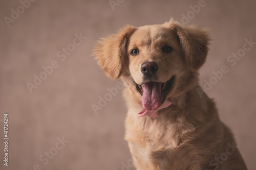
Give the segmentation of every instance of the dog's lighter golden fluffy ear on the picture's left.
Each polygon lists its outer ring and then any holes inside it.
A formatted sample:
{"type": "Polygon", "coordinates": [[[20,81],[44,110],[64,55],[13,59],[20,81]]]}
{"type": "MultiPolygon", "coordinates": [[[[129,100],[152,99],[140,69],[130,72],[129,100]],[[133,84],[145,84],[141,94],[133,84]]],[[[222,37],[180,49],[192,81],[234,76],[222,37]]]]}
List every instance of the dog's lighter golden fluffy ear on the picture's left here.
{"type": "Polygon", "coordinates": [[[127,57],[126,47],[135,31],[135,27],[126,26],[118,34],[102,38],[96,44],[93,55],[108,77],[117,79],[121,76],[124,60],[127,57]]]}

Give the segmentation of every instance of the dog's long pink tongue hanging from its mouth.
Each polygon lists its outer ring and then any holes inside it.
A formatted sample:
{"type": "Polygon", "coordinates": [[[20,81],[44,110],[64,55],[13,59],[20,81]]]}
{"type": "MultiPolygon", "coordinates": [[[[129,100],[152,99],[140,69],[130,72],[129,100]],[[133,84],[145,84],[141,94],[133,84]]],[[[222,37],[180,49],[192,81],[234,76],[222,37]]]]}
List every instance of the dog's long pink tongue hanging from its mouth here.
{"type": "Polygon", "coordinates": [[[144,84],[142,106],[146,110],[156,110],[162,103],[161,83],[148,82],[144,84]]]}

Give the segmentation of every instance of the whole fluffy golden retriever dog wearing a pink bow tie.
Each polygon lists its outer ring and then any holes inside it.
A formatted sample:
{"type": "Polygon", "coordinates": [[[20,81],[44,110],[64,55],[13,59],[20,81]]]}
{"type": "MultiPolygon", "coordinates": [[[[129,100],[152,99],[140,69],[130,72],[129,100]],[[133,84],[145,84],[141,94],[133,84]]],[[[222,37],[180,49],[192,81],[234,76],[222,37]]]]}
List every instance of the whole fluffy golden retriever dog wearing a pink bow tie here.
{"type": "Polygon", "coordinates": [[[126,26],[96,44],[105,74],[124,82],[125,140],[136,169],[247,169],[215,102],[199,86],[209,39],[207,29],[171,19],[126,26]]]}

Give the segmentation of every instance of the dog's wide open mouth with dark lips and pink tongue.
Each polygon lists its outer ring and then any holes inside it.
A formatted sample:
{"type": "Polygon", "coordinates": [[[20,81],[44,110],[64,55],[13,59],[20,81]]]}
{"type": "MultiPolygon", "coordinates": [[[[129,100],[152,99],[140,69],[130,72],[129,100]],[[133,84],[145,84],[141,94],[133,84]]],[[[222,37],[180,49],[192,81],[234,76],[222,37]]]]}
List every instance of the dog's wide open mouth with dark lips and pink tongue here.
{"type": "Polygon", "coordinates": [[[142,95],[142,106],[146,110],[156,110],[164,101],[166,94],[172,89],[175,76],[167,82],[147,82],[136,84],[136,89],[142,95]]]}

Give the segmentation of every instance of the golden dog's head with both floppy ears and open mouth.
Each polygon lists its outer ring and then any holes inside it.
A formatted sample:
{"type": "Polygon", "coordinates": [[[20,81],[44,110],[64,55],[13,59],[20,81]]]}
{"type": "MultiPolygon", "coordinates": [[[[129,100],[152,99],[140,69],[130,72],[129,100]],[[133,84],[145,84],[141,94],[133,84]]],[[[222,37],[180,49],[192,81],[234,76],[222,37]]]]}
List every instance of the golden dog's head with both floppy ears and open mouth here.
{"type": "Polygon", "coordinates": [[[197,80],[208,41],[207,30],[171,19],[163,25],[126,26],[100,40],[94,55],[106,75],[121,76],[145,109],[156,110],[197,80]]]}

